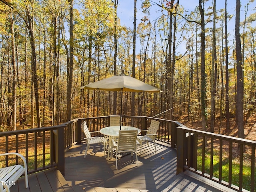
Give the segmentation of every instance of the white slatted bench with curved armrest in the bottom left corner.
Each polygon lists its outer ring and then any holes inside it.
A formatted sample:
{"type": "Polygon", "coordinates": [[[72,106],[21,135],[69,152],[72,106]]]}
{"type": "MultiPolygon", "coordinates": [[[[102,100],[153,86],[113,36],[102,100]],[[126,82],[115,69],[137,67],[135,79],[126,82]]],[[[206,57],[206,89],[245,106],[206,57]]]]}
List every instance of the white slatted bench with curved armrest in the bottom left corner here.
{"type": "Polygon", "coordinates": [[[26,188],[28,188],[28,171],[27,171],[27,163],[24,156],[19,153],[4,153],[0,154],[0,156],[6,155],[16,155],[19,156],[23,163],[22,165],[13,165],[5,168],[0,168],[0,192],[10,192],[10,187],[15,185],[15,182],[20,178],[22,174],[25,174],[25,184],[26,188]]]}

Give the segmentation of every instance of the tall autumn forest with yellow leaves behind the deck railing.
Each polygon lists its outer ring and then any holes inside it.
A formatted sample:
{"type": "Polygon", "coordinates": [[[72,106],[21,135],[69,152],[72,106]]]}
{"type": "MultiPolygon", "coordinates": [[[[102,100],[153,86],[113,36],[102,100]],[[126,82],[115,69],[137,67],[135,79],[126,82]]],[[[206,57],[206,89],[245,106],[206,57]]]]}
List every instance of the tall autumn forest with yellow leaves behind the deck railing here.
{"type": "Polygon", "coordinates": [[[1,131],[118,115],[119,92],[80,87],[124,72],[162,90],[124,92],[124,115],[186,115],[210,132],[235,118],[244,138],[256,108],[254,0],[193,2],[130,1],[126,26],[118,0],[0,0],[1,131]]]}

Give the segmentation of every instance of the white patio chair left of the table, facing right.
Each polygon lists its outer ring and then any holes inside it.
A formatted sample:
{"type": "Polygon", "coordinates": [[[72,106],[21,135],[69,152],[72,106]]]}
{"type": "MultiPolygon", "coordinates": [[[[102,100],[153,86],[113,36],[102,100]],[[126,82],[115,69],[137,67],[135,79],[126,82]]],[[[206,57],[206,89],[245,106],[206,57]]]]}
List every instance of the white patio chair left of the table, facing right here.
{"type": "Polygon", "coordinates": [[[85,139],[87,140],[87,146],[86,146],[86,150],[85,150],[85,154],[84,154],[84,158],[86,158],[86,154],[87,154],[87,151],[89,150],[90,148],[90,144],[103,144],[104,146],[104,157],[106,158],[106,139],[105,137],[92,137],[91,133],[97,133],[99,131],[92,131],[92,132],[89,132],[89,129],[87,127],[87,124],[86,122],[82,122],[82,129],[84,131],[84,136],[86,137],[85,139]]]}

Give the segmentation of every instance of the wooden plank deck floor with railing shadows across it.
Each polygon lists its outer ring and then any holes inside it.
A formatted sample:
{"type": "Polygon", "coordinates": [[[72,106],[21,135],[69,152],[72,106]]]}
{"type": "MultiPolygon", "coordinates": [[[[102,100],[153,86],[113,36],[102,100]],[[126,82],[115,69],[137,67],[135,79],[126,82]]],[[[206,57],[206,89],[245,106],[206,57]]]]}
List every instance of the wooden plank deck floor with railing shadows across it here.
{"type": "MultiPolygon", "coordinates": [[[[29,188],[25,189],[24,178],[11,192],[232,192],[233,190],[198,176],[192,172],[176,175],[176,150],[170,145],[157,142],[144,144],[136,167],[135,156],[118,160],[106,160],[102,147],[91,146],[86,158],[86,144],[76,145],[65,154],[65,176],[50,169],[31,174],[29,188]]],[[[139,152],[138,148],[138,152],[139,152]]],[[[139,154],[139,153],[138,153],[139,154]]]]}

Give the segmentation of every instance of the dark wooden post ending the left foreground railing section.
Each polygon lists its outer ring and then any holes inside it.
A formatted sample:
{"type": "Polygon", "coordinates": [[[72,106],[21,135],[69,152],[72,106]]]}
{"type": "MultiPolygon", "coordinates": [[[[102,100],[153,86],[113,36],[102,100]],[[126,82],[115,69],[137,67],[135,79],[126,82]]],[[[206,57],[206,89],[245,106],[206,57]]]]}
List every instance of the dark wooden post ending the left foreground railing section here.
{"type": "Polygon", "coordinates": [[[57,169],[65,176],[64,127],[58,127],[57,130],[57,169]]]}

